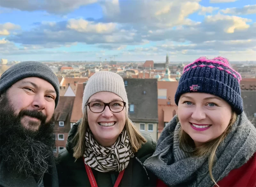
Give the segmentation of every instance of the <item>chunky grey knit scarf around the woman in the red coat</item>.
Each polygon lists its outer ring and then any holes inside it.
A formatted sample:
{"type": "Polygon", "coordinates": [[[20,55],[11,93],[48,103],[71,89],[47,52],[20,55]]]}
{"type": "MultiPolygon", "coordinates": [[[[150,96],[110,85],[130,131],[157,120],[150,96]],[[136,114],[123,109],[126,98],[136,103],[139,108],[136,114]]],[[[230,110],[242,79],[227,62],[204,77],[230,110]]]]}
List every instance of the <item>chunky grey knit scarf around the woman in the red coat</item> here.
{"type": "MultiPolygon", "coordinates": [[[[174,116],[158,139],[155,153],[144,165],[169,186],[214,186],[209,175],[208,159],[191,157],[178,146],[179,140],[175,133],[178,125],[174,116]]],[[[232,169],[244,165],[255,152],[256,129],[242,113],[237,116],[231,131],[216,150],[217,159],[212,167],[215,181],[220,181],[232,169]]]]}

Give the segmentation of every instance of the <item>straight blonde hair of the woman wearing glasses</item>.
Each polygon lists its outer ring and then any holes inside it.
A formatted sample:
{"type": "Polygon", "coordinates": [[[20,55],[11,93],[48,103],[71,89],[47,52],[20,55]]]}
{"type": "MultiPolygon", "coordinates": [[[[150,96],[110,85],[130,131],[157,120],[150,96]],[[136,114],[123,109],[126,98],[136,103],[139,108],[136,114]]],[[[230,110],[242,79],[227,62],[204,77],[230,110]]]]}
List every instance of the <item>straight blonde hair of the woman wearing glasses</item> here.
{"type": "MultiPolygon", "coordinates": [[[[127,109],[125,108],[124,128],[126,129],[128,137],[130,139],[132,151],[135,153],[141,148],[142,144],[147,142],[147,140],[140,134],[140,132],[135,128],[133,123],[130,121],[126,110],[127,109]]],[[[73,151],[74,151],[73,157],[75,159],[78,159],[84,155],[84,151],[85,151],[85,138],[84,137],[85,137],[85,132],[86,132],[86,129],[88,128],[88,126],[89,126],[88,116],[87,116],[87,111],[85,108],[82,121],[81,121],[80,125],[78,125],[76,135],[72,139],[73,144],[75,145],[73,148],[73,151]]]]}

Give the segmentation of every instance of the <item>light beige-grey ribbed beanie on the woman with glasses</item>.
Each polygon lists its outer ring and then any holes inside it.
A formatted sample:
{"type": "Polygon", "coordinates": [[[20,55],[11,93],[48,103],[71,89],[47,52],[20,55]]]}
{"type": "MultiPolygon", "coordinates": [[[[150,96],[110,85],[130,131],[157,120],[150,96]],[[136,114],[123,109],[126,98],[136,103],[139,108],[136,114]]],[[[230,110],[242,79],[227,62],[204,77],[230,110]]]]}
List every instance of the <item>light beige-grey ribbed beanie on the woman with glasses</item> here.
{"type": "Polygon", "coordinates": [[[128,99],[124,87],[123,78],[111,71],[98,71],[92,75],[84,88],[82,111],[85,111],[85,105],[93,94],[98,92],[112,92],[126,102],[126,112],[128,112],[128,99]]]}

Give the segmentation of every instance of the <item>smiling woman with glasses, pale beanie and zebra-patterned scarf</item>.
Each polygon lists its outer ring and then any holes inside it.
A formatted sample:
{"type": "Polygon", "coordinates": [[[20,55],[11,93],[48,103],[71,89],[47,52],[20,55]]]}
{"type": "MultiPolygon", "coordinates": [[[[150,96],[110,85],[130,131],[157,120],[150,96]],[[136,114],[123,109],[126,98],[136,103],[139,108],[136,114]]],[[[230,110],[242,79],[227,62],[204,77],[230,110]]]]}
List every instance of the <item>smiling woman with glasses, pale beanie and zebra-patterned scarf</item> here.
{"type": "Polygon", "coordinates": [[[155,186],[155,176],[142,163],[156,141],[128,118],[122,77],[95,73],[85,86],[82,111],[59,154],[60,186],[155,186]]]}

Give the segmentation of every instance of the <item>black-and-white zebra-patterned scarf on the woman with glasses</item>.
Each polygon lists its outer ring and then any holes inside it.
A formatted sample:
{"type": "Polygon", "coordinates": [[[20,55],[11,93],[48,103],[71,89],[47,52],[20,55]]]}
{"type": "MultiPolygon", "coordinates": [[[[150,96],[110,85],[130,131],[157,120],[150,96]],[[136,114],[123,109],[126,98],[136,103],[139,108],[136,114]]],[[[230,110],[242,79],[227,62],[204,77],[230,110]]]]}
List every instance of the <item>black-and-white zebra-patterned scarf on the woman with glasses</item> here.
{"type": "Polygon", "coordinates": [[[87,128],[85,133],[84,163],[91,168],[100,171],[122,171],[133,157],[132,146],[127,131],[124,129],[114,145],[103,147],[94,140],[92,131],[87,128]]]}

